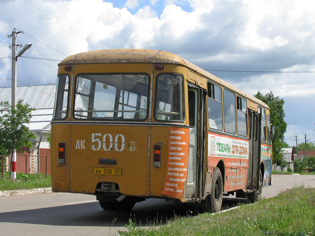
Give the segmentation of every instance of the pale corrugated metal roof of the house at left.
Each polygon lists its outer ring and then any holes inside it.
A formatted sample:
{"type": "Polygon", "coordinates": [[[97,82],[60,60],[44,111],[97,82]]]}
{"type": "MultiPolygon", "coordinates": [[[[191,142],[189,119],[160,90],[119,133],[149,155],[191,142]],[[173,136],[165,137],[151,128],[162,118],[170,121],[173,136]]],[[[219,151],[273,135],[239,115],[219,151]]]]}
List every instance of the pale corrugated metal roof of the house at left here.
{"type": "MultiPolygon", "coordinates": [[[[0,87],[0,101],[11,104],[11,87],[0,87]]],[[[23,100],[34,110],[31,112],[30,124],[26,124],[31,131],[49,131],[53,118],[56,84],[19,86],[16,88],[16,100],[23,100]]]]}

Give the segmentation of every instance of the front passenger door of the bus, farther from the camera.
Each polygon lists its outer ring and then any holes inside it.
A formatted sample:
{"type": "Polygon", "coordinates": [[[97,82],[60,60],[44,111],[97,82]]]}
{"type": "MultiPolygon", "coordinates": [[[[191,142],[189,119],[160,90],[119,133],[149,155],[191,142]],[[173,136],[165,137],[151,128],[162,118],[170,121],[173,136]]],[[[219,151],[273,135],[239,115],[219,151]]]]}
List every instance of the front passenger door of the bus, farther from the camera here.
{"type": "Polygon", "coordinates": [[[259,114],[249,111],[249,160],[246,189],[253,190],[257,184],[257,166],[259,157],[259,114]]]}

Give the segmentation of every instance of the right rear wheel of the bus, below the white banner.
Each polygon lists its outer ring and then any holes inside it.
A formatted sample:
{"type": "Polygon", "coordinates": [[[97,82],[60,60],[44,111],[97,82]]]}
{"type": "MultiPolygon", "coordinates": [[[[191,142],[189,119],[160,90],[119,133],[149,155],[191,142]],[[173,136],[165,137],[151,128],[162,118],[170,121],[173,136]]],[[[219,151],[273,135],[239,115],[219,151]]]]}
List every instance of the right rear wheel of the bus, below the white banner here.
{"type": "Polygon", "coordinates": [[[215,168],[211,185],[211,207],[213,212],[221,211],[223,199],[223,180],[221,171],[215,168]]]}

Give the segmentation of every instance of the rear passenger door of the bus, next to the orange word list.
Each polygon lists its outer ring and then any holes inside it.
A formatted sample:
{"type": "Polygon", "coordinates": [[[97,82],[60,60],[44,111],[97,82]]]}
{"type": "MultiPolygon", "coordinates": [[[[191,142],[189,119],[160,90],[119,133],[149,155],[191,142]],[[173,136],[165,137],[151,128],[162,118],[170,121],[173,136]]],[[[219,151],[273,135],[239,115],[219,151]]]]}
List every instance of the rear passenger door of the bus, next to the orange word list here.
{"type": "Polygon", "coordinates": [[[188,88],[189,157],[186,182],[186,199],[200,198],[204,162],[204,98],[201,89],[188,88]]]}

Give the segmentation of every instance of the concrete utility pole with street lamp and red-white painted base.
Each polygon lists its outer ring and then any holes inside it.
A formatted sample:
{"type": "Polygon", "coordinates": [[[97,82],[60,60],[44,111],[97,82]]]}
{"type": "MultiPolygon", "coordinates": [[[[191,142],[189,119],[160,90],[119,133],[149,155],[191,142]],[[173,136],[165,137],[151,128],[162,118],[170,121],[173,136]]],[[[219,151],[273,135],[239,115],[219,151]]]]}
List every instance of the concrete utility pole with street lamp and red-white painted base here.
{"type": "MultiPolygon", "coordinates": [[[[16,45],[16,35],[19,33],[24,33],[24,31],[16,32],[15,28],[12,31],[12,34],[8,37],[12,37],[12,100],[11,105],[15,109],[16,107],[16,62],[18,60],[18,57],[20,57],[27,49],[29,49],[32,45],[31,43],[27,43],[23,49],[16,55],[16,47],[22,45],[16,45]]],[[[13,150],[12,156],[11,156],[11,173],[10,173],[10,179],[16,179],[16,150],[13,150]]]]}

